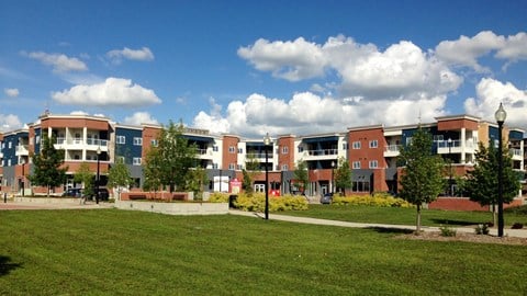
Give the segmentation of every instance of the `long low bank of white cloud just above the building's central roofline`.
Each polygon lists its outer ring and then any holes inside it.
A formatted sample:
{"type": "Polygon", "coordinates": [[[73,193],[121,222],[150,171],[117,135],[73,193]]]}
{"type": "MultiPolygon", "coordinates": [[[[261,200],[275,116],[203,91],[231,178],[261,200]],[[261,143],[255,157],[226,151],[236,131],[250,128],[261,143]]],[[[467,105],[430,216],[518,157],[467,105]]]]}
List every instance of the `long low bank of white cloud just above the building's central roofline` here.
{"type": "Polygon", "coordinates": [[[346,132],[347,127],[370,124],[415,124],[419,118],[422,122],[434,122],[434,117],[445,115],[445,102],[446,96],[345,101],[311,92],[296,93],[287,101],[255,93],[245,101],[231,102],[225,114],[200,112],[192,125],[214,133],[249,137],[261,137],[266,133],[306,135],[346,132]]]}

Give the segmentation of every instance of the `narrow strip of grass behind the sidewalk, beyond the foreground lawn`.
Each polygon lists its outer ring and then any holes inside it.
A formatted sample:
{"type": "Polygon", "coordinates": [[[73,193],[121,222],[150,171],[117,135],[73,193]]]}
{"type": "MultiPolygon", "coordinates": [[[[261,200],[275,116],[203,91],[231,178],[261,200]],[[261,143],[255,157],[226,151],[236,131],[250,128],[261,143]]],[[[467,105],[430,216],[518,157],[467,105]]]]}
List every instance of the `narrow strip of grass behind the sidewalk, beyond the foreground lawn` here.
{"type": "MultiPolygon", "coordinates": [[[[355,223],[415,225],[416,209],[400,207],[373,207],[373,206],[336,206],[336,205],[310,205],[307,210],[291,210],[277,213],[291,216],[302,216],[322,219],[333,219],[355,223]]],[[[422,225],[424,226],[476,226],[478,224],[493,220],[490,212],[467,210],[440,210],[422,209],[422,225]]],[[[527,225],[527,215],[520,212],[504,214],[505,225],[515,223],[527,225]]]]}

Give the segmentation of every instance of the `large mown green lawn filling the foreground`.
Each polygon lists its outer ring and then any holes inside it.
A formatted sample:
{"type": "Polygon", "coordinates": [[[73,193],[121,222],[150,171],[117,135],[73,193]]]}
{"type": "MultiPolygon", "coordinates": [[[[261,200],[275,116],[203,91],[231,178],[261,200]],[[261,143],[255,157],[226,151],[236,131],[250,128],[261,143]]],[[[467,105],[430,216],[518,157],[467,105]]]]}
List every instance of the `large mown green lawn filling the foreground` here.
{"type": "Polygon", "coordinates": [[[526,295],[527,248],[117,209],[0,212],[0,295],[526,295]]]}

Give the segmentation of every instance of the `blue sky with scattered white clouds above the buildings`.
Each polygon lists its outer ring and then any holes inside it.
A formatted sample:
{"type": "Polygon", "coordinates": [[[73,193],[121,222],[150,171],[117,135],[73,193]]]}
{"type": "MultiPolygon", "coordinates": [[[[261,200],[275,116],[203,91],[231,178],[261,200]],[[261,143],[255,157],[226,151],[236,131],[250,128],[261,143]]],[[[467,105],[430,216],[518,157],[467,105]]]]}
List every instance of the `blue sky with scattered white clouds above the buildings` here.
{"type": "Polygon", "coordinates": [[[52,114],[249,138],[469,114],[527,129],[527,1],[0,1],[0,132],[52,114]]]}

